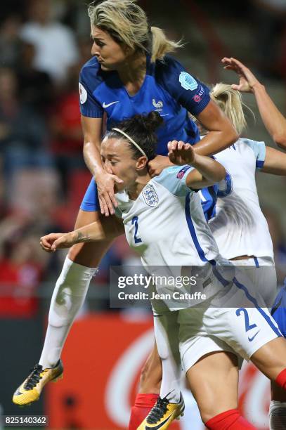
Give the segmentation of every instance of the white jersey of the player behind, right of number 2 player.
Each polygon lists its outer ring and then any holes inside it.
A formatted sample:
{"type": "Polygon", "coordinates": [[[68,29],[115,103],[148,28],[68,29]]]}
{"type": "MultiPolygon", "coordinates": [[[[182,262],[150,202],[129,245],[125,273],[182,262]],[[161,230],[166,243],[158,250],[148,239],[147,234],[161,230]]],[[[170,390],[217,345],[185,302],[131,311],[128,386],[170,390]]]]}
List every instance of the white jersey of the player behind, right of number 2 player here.
{"type": "Polygon", "coordinates": [[[227,176],[219,183],[216,216],[209,227],[226,259],[244,255],[273,259],[271,235],[255,183],[255,171],[263,167],[265,154],[264,142],[240,138],[215,155],[227,176]]]}

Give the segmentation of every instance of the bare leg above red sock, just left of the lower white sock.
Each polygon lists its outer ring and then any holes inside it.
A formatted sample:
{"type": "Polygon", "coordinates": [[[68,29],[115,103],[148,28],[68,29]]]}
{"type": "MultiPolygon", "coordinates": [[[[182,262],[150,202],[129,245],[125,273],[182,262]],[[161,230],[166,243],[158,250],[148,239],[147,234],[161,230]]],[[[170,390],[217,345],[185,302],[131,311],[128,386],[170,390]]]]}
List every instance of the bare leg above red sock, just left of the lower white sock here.
{"type": "Polygon", "coordinates": [[[162,362],[158,354],[157,344],[154,343],[141,370],[139,393],[160,393],[162,381],[162,362]]]}

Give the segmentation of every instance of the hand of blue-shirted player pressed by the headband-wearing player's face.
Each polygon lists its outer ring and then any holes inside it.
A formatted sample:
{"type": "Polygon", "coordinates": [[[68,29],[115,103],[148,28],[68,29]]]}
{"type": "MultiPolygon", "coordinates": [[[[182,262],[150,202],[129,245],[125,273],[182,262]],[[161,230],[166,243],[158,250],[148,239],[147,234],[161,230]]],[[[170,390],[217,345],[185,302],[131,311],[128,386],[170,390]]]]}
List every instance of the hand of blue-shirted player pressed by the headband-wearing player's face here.
{"type": "Polygon", "coordinates": [[[115,199],[115,183],[122,182],[122,179],[119,179],[118,176],[107,172],[96,177],[101,214],[105,216],[115,214],[114,207],[117,207],[117,201],[115,199]]]}

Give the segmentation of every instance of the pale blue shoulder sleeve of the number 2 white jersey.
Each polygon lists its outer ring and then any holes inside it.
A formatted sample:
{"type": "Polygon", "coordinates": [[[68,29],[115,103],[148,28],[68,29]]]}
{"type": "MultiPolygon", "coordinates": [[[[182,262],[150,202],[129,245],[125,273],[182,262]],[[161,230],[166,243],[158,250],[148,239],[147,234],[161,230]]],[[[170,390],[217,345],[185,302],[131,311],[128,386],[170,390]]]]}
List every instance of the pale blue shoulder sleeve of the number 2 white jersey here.
{"type": "Polygon", "coordinates": [[[188,166],[187,164],[186,166],[167,167],[159,176],[155,176],[153,181],[163,185],[169,193],[183,197],[191,191],[188,185],[186,185],[186,178],[193,169],[192,166],[188,166]]]}

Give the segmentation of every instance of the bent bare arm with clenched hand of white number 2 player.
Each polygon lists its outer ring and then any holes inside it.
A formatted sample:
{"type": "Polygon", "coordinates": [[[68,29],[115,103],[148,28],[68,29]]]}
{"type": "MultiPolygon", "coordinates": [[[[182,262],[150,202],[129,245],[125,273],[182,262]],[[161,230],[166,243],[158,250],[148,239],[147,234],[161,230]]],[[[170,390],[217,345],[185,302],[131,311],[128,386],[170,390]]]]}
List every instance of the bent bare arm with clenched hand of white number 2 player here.
{"type": "Polygon", "coordinates": [[[169,159],[182,166],[189,164],[193,169],[186,178],[186,185],[200,189],[221,181],[226,176],[226,169],[215,159],[198,155],[190,143],[172,141],[168,143],[169,159]]]}

